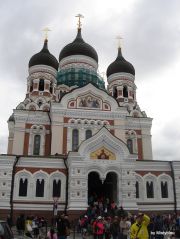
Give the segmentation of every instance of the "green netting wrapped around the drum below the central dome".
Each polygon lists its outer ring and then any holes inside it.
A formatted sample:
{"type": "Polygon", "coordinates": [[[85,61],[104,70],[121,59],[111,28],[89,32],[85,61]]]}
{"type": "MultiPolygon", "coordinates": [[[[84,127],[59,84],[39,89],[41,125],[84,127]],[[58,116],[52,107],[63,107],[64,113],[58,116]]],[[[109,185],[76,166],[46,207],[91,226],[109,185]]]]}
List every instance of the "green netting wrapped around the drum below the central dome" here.
{"type": "Polygon", "coordinates": [[[99,89],[105,89],[105,83],[103,78],[96,72],[83,69],[83,68],[70,68],[65,70],[60,70],[57,74],[57,85],[67,85],[79,87],[85,86],[88,83],[92,83],[99,89]]]}

